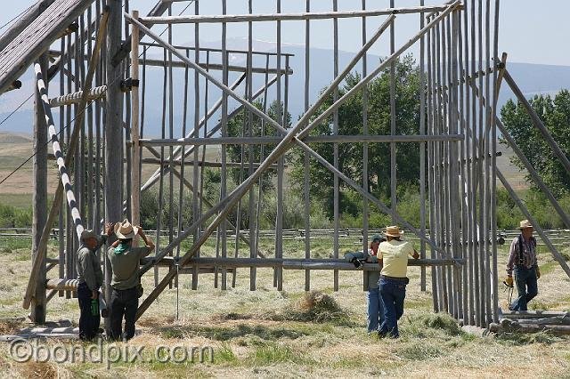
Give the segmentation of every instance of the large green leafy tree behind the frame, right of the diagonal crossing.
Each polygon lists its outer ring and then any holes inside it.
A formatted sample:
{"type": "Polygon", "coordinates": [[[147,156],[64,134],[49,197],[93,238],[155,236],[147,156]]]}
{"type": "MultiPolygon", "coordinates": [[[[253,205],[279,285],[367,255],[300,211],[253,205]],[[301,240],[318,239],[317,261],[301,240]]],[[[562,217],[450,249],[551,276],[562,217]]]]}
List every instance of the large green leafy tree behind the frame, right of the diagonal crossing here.
{"type": "MultiPolygon", "coordinates": [[[[339,96],[344,95],[360,81],[358,74],[346,77],[339,96]]],[[[330,96],[317,112],[322,114],[333,103],[330,96]]],[[[417,134],[419,131],[419,69],[411,55],[395,64],[395,124],[396,134],[417,134]]],[[[383,71],[368,85],[368,127],[370,134],[390,134],[390,74],[383,71]]],[[[333,118],[328,117],[316,125],[311,135],[332,135],[333,118]]],[[[362,92],[355,93],[338,109],[338,134],[362,134],[362,92]]],[[[314,143],[311,147],[330,163],[333,162],[332,143],[314,143]]],[[[302,188],[304,178],[304,156],[297,156],[293,178],[297,189],[302,188]]],[[[396,145],[397,183],[400,189],[419,182],[419,145],[398,143],[396,145]]],[[[338,169],[356,182],[362,183],[362,143],[338,144],[338,169]]],[[[311,159],[311,191],[324,198],[324,207],[329,217],[333,215],[333,173],[311,159]]],[[[368,161],[369,190],[378,198],[388,199],[390,195],[390,145],[370,143],[368,161]]],[[[339,181],[339,212],[358,215],[362,206],[350,195],[353,191],[339,181]]],[[[387,201],[389,204],[389,201],[387,201]]]]}

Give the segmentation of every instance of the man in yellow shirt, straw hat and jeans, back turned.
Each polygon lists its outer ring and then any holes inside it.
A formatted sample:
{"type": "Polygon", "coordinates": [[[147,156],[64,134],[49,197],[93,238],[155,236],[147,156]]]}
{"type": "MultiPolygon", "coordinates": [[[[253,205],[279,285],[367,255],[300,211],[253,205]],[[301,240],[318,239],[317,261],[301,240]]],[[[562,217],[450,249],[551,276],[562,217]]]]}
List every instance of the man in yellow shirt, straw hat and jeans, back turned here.
{"type": "Polygon", "coordinates": [[[397,226],[386,228],[387,241],[379,246],[378,262],[381,267],[379,289],[384,302],[384,322],[379,327],[379,336],[398,338],[398,319],[403,315],[403,299],[406,297],[408,256],[419,258],[410,242],[401,240],[402,232],[397,226]]]}

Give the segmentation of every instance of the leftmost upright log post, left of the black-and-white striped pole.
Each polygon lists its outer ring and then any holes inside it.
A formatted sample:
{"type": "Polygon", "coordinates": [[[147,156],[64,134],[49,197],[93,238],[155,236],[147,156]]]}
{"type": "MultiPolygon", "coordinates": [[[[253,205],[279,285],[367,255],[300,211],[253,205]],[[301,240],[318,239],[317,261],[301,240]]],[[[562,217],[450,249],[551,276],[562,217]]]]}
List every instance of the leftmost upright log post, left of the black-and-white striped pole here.
{"type": "MultiPolygon", "coordinates": [[[[47,77],[47,55],[42,54],[38,63],[44,77],[47,77]]],[[[47,86],[47,84],[46,84],[47,86]]],[[[47,219],[47,125],[39,90],[36,86],[34,101],[34,159],[33,159],[33,219],[32,219],[32,254],[36,258],[42,231],[47,219]]],[[[39,270],[36,276],[36,290],[32,300],[31,319],[36,324],[45,322],[45,254],[41,254],[39,270]]]]}

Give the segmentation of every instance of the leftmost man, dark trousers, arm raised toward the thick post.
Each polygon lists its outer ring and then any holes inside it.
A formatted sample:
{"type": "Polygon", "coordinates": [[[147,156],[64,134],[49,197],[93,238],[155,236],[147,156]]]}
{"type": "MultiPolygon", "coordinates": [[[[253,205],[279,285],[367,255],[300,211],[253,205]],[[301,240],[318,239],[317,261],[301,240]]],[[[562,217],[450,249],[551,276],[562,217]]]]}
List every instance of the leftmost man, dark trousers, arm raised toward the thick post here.
{"type": "Polygon", "coordinates": [[[79,302],[79,338],[89,341],[97,335],[99,318],[99,288],[103,284],[101,261],[96,252],[113,233],[113,224],[105,225],[106,234],[97,236],[93,230],[81,232],[77,250],[77,301],[79,302]]]}

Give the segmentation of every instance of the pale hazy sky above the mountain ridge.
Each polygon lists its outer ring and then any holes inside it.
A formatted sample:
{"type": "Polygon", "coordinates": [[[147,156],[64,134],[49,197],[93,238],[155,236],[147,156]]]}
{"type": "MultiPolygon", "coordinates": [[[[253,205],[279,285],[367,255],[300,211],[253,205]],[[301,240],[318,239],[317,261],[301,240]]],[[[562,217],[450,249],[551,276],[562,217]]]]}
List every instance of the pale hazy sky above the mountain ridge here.
{"type": "MultiPolygon", "coordinates": [[[[141,13],[148,12],[158,0],[131,0],[131,9],[141,13]]],[[[3,12],[0,14],[0,25],[4,25],[12,17],[26,9],[33,0],[3,1],[3,12]]],[[[200,4],[202,13],[221,12],[221,0],[208,0],[200,4]]],[[[229,13],[242,13],[247,10],[247,0],[227,0],[229,13]]],[[[305,0],[282,0],[282,12],[302,12],[305,9],[305,0]]],[[[367,0],[367,7],[386,8],[388,0],[367,0]]],[[[442,1],[426,0],[426,4],[443,4],[442,1]]],[[[173,12],[178,14],[187,3],[174,3],[173,12]]],[[[274,11],[274,1],[253,0],[254,13],[274,11]]],[[[317,11],[331,9],[331,0],[312,0],[311,7],[317,11]]],[[[354,9],[354,4],[362,6],[361,0],[338,0],[339,10],[354,9]]],[[[395,6],[416,6],[419,0],[396,0],[395,6]]],[[[492,0],[494,4],[494,0],[492,0]]],[[[191,14],[194,5],[184,12],[191,14]]],[[[570,66],[568,41],[570,40],[570,1],[568,0],[501,0],[501,30],[500,51],[509,53],[510,61],[542,63],[570,66]]],[[[419,16],[401,15],[396,20],[396,45],[405,42],[418,30],[419,16]]],[[[368,29],[378,28],[381,19],[370,19],[368,29]]],[[[270,22],[255,23],[254,37],[259,40],[274,41],[275,24],[270,22]]],[[[305,24],[300,21],[283,23],[282,39],[285,43],[304,44],[305,24]]],[[[162,30],[163,26],[156,26],[162,30]]],[[[175,34],[183,43],[193,39],[191,27],[178,26],[175,34]]],[[[331,48],[331,21],[322,20],[311,23],[311,44],[314,47],[331,48]]],[[[360,20],[339,20],[341,35],[339,48],[346,51],[355,51],[362,44],[360,20]],[[354,41],[357,41],[354,43],[354,41]]],[[[4,32],[5,28],[0,30],[4,32]]],[[[220,39],[220,28],[217,26],[200,27],[200,39],[216,41],[220,39]]],[[[228,36],[247,36],[243,26],[231,24],[228,27],[228,36]]],[[[380,39],[371,52],[381,55],[387,54],[387,40],[380,39]]]]}

